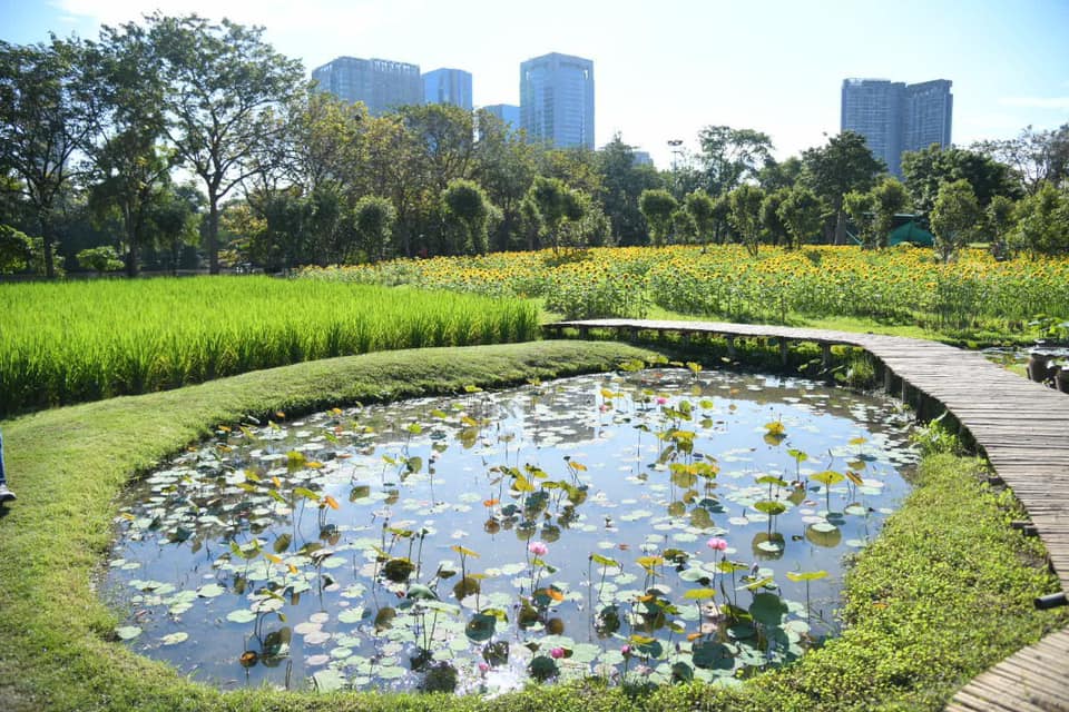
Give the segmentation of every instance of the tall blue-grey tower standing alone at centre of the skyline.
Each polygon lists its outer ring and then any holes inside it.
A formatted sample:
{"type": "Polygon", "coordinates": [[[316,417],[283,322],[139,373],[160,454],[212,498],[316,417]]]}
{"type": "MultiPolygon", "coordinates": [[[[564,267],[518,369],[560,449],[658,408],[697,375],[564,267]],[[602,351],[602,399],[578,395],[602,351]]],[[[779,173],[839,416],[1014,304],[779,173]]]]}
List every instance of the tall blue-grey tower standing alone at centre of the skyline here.
{"type": "Polygon", "coordinates": [[[532,141],[594,148],[594,62],[552,52],[520,65],[520,127],[532,141]]]}

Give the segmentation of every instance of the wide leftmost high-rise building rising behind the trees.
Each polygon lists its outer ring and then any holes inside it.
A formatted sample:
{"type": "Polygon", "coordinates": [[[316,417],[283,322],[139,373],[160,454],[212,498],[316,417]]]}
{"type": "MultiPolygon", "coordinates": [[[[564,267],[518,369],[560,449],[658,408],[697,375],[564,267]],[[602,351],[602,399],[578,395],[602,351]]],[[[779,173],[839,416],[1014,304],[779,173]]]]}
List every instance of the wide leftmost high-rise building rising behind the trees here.
{"type": "Polygon", "coordinates": [[[312,78],[320,82],[323,91],[346,101],[363,101],[372,116],[423,103],[423,82],[416,65],[339,57],[314,69],[312,78]]]}

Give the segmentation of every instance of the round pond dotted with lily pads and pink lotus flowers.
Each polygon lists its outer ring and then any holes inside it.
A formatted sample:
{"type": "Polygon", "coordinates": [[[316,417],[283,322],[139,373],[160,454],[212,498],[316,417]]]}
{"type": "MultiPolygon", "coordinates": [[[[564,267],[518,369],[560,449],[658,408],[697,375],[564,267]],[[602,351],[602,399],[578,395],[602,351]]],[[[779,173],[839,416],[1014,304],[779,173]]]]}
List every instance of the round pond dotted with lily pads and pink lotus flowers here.
{"type": "Polygon", "coordinates": [[[908,491],[889,400],[656,368],[220,426],[139,483],[102,591],[198,680],[737,681],[836,632],[908,491]]]}

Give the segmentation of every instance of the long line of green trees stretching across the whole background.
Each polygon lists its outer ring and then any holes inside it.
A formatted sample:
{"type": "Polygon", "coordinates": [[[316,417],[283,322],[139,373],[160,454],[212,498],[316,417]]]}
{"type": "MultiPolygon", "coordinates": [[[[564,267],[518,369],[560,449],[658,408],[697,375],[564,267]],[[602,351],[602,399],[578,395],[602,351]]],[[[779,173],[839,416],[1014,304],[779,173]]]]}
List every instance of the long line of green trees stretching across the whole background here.
{"type": "Polygon", "coordinates": [[[669,170],[553,149],[487,111],[373,117],[322,92],[263,29],[156,13],[97,39],[0,42],[0,271],[310,264],[737,240],[876,247],[915,212],[949,258],[1069,251],[1069,125],[908,154],[886,175],[844,131],[783,161],[708,126],[669,170]]]}

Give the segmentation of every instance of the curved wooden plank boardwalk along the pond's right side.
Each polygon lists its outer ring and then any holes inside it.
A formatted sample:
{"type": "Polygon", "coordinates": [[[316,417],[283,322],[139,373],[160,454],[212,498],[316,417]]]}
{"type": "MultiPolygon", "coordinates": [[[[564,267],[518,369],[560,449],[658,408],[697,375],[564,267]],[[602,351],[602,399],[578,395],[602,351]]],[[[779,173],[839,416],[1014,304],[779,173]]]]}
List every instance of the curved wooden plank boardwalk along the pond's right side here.
{"type": "MultiPolygon", "coordinates": [[[[881,364],[883,383],[919,415],[950,411],[987,456],[998,477],[1028,510],[1050,565],[1069,592],[1069,395],[990,363],[982,355],[922,339],[825,329],[715,322],[596,319],[546,325],[558,335],[570,328],[712,335],[727,339],[813,343],[825,359],[835,345],[856,346],[881,364]],[[938,408],[938,409],[936,409],[938,408]]],[[[1031,527],[1030,527],[1031,531],[1031,527]]],[[[947,708],[955,712],[1069,712],[1069,629],[1051,633],[978,675],[947,708]]]]}

